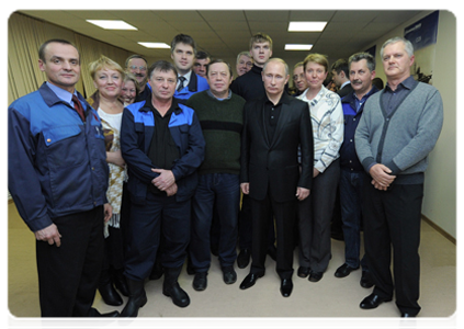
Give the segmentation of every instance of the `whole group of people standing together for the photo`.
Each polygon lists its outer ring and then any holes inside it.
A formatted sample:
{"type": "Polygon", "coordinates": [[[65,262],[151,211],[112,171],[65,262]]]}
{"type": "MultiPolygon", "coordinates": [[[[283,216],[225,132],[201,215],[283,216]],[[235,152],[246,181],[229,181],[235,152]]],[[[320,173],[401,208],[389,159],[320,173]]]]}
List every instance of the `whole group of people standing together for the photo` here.
{"type": "Polygon", "coordinates": [[[7,110],[7,185],[37,240],[43,328],[127,326],[148,300],[145,281],[161,275],[162,293],[186,307],[185,259],[204,291],[212,253],[226,284],[237,281],[235,262],[251,259],[241,290],[265,274],[269,254],[290,297],[295,246],[297,276],[318,282],[328,268],[338,186],[346,262],[335,275],[361,265],[361,286],[374,290],[360,307],[395,292],[399,328],[416,328],[423,172],[443,109],[438,90],[409,73],[411,44],[383,45],[382,91],[372,55],[329,69],[325,55],[309,54],[293,71],[296,95],[271,37],[258,33],[249,48],[234,81],[229,64],[184,34],[172,39],[172,63],[148,67],[133,55],[123,69],[101,56],[86,101],[75,88],[78,49],[64,39],[41,46],[47,81],[7,110]],[[324,86],[328,73],[344,97],[324,86]],[[128,296],[123,311],[92,308],[97,288],[110,305],[128,296]]]}

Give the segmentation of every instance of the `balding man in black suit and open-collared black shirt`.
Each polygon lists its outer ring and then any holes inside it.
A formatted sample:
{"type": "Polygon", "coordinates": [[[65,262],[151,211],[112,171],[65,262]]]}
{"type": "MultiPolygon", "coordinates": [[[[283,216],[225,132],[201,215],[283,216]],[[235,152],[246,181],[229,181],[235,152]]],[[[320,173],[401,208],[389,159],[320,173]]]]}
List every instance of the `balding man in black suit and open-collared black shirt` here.
{"type": "Polygon", "coordinates": [[[284,92],[288,66],[280,58],[263,67],[265,95],[244,109],[240,186],[250,196],[252,213],[252,263],[241,290],[264,275],[269,217],[276,224],[276,271],[281,293],[288,297],[293,283],[293,247],[296,200],[309,195],[313,178],[313,129],[309,109],[284,92]],[[302,148],[302,171],[298,167],[302,148]]]}

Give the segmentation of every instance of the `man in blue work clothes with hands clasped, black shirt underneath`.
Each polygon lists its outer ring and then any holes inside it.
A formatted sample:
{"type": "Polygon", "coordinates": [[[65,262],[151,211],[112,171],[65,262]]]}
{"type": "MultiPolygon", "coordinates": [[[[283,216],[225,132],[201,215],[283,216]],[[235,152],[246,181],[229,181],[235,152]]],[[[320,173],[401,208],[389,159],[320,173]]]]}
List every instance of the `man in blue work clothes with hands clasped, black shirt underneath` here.
{"type": "Polygon", "coordinates": [[[205,141],[192,109],[173,99],[178,72],[166,61],[148,70],[151,95],[124,109],[121,149],[128,166],[131,219],[125,272],[129,300],[120,325],[127,326],[147,303],[144,280],[155,264],[161,236],[165,250],[162,293],[185,307],[188,294],[178,277],[190,238],[191,197],[204,159],[205,141]]]}

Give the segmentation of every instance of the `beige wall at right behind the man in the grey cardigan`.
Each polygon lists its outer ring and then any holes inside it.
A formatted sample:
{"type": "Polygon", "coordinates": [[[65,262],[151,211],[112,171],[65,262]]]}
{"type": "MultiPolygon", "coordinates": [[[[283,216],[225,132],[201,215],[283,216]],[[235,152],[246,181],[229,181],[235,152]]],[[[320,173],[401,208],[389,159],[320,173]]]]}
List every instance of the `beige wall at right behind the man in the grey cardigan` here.
{"type": "MultiPolygon", "coordinates": [[[[425,10],[375,42],[376,72],[385,81],[378,52],[393,36],[430,14],[425,10]]],[[[433,67],[433,86],[443,99],[444,123],[435,148],[429,156],[426,172],[422,214],[461,241],[461,11],[440,10],[433,67]]],[[[367,45],[364,49],[373,46],[367,45]]],[[[360,49],[360,50],[364,50],[360,49]]]]}

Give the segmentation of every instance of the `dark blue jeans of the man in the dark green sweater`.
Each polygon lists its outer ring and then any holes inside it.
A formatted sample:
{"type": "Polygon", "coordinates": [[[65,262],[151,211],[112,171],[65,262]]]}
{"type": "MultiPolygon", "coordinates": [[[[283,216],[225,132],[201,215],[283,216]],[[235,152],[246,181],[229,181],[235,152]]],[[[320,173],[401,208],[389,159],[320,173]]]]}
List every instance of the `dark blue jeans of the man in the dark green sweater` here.
{"type": "Polygon", "coordinates": [[[199,178],[192,197],[190,258],[196,273],[207,272],[211,264],[210,231],[213,206],[216,203],[219,219],[220,266],[231,266],[237,258],[237,224],[240,203],[238,174],[207,173],[199,178]]]}

